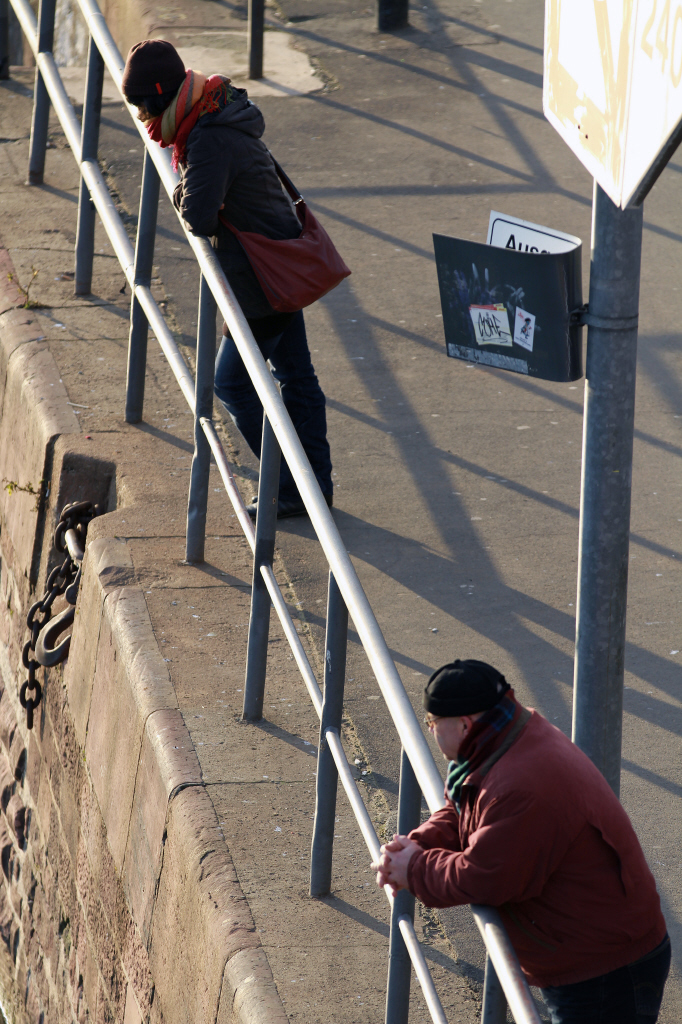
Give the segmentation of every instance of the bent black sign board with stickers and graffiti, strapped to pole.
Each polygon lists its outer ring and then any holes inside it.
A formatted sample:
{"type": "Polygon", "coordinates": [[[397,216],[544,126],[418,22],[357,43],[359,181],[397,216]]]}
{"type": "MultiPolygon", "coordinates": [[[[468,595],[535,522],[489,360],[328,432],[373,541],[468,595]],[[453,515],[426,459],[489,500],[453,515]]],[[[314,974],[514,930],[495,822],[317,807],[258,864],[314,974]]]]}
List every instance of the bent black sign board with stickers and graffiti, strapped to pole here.
{"type": "Polygon", "coordinates": [[[530,253],[434,234],[447,355],[574,381],[583,376],[582,246],[530,253]]]}

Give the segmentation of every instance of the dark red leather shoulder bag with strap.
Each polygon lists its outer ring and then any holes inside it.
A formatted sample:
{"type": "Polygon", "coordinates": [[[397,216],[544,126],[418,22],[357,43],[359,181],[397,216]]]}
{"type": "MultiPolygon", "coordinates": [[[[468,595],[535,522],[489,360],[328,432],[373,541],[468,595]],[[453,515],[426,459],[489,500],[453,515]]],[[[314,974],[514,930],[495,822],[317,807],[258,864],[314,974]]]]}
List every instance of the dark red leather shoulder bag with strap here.
{"type": "Polygon", "coordinates": [[[257,231],[240,231],[222,214],[219,217],[242,245],[272,308],[293,313],[327,295],[350,270],[291,178],[274,158],[272,162],[301,222],[299,237],[267,239],[257,231]]]}

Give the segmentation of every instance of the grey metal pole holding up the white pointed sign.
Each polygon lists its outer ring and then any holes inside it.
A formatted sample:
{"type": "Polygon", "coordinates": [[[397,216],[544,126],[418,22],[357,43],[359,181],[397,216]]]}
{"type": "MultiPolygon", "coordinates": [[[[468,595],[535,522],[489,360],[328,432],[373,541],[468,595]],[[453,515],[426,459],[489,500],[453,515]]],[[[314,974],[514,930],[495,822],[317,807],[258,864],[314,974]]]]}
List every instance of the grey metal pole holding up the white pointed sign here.
{"type": "Polygon", "coordinates": [[[621,787],[642,207],[595,182],[576,621],[573,741],[621,787]]]}

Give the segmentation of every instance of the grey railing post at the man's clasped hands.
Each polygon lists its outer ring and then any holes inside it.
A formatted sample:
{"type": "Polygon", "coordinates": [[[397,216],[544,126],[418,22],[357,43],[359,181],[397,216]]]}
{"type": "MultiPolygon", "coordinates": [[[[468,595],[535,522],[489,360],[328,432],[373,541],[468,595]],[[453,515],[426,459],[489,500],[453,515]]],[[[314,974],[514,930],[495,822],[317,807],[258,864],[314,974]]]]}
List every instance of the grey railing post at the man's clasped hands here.
{"type": "MultiPolygon", "coordinates": [[[[406,836],[416,828],[422,816],[422,791],[404,751],[400,754],[400,788],[398,791],[398,835],[406,836]]],[[[393,837],[391,837],[392,839],[393,837]]],[[[410,980],[412,963],[398,919],[407,914],[415,920],[415,897],[401,889],[391,908],[391,935],[388,946],[388,983],[386,985],[386,1024],[407,1024],[410,1015],[410,980]]]]}

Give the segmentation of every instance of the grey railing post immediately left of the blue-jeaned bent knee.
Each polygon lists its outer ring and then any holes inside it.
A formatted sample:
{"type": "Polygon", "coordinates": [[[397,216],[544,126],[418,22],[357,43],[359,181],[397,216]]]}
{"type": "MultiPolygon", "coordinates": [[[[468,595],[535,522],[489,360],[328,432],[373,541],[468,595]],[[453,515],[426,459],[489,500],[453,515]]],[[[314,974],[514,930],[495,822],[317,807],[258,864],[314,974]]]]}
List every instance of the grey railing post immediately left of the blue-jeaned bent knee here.
{"type": "Polygon", "coordinates": [[[199,327],[197,330],[197,377],[195,381],[195,454],[189,474],[187,501],[187,537],[185,559],[204,561],[206,510],[208,508],[211,446],[201,418],[213,418],[213,376],[215,367],[215,313],[217,305],[206,278],[199,287],[199,327]]]}

